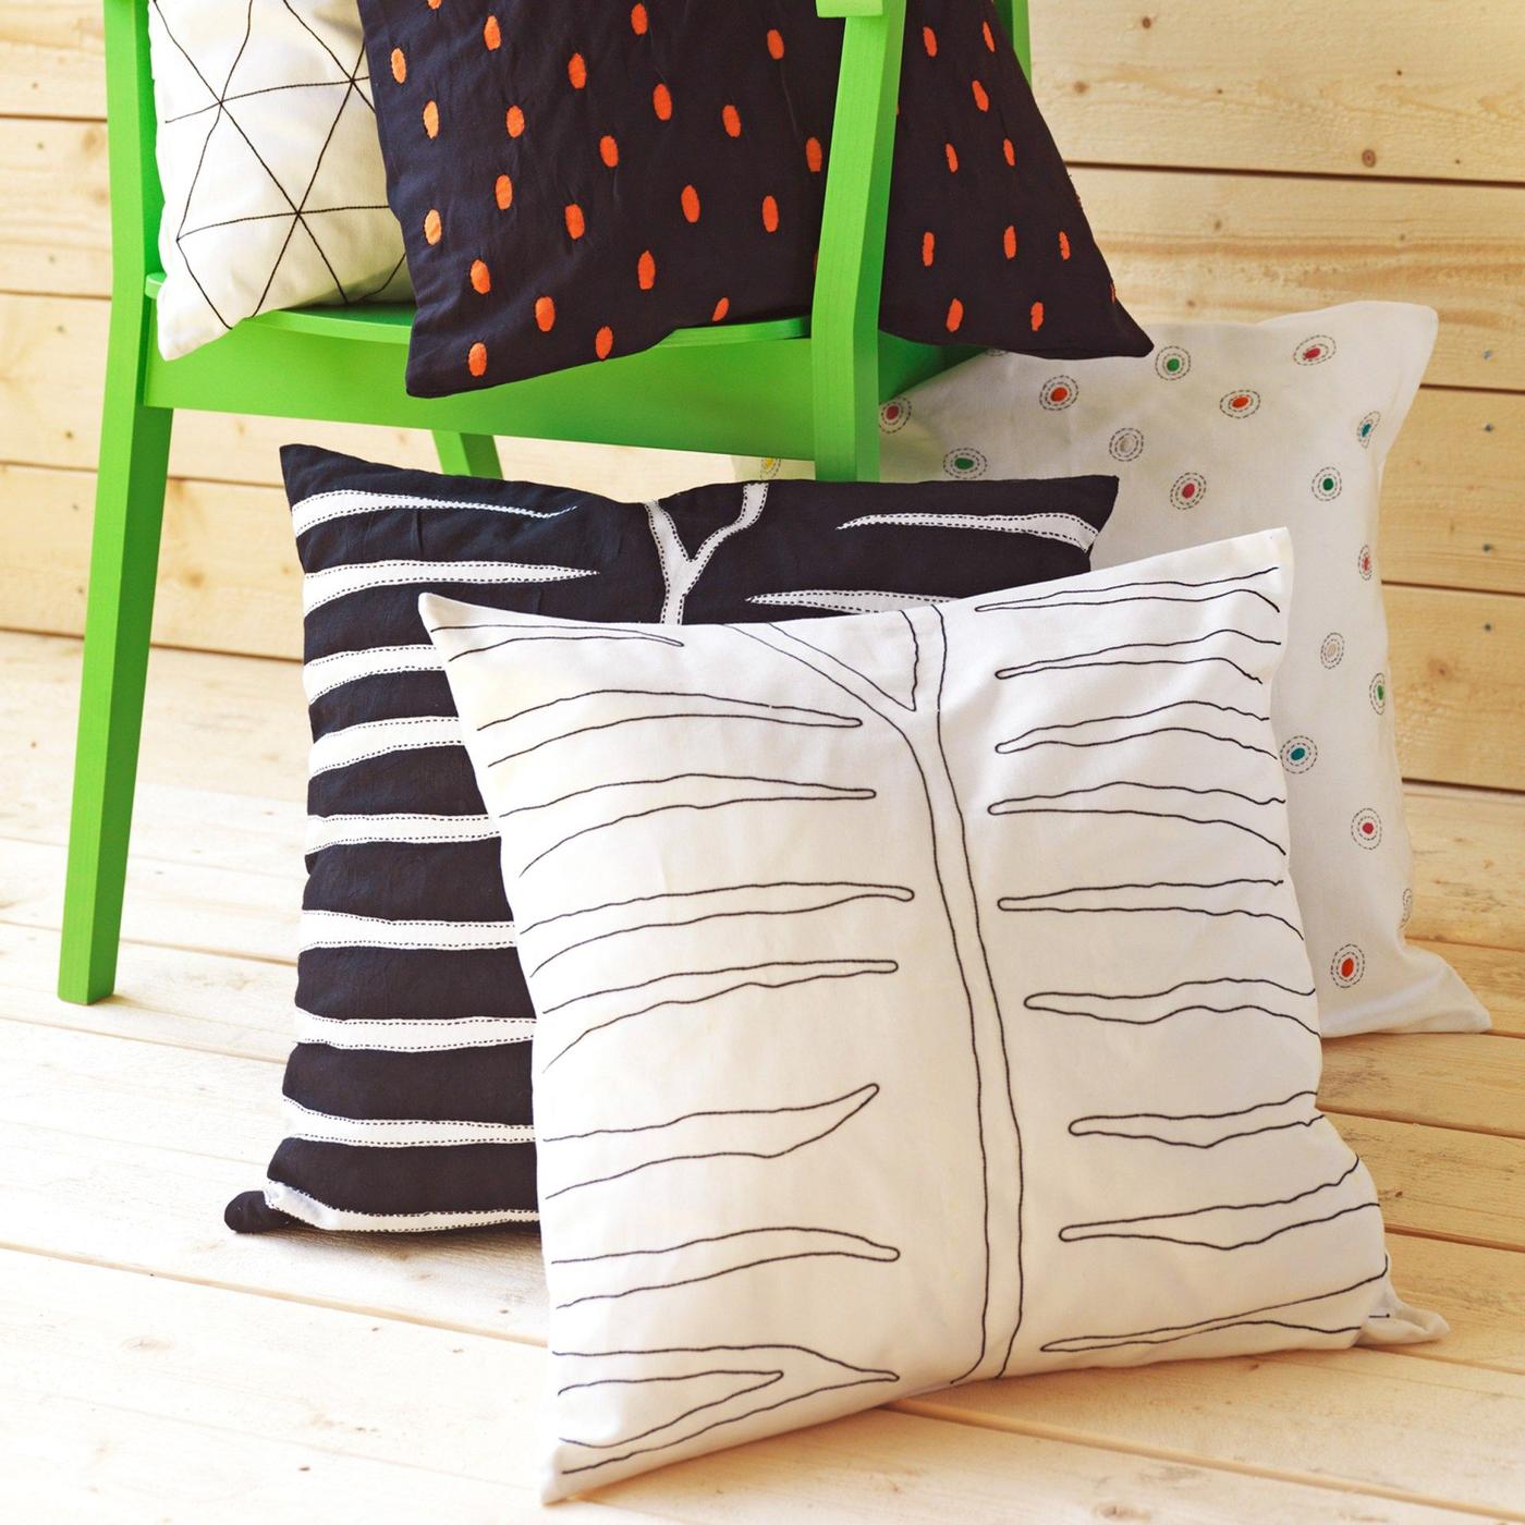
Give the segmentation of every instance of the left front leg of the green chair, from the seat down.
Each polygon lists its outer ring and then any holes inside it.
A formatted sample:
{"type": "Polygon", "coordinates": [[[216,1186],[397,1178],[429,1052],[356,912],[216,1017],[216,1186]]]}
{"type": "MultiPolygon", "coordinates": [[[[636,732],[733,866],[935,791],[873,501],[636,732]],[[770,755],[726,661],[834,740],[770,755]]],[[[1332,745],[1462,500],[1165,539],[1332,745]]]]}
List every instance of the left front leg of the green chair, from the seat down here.
{"type": "Polygon", "coordinates": [[[58,994],[111,994],[133,825],[148,639],[174,413],[137,403],[146,322],[113,323],[85,610],[58,994]]]}

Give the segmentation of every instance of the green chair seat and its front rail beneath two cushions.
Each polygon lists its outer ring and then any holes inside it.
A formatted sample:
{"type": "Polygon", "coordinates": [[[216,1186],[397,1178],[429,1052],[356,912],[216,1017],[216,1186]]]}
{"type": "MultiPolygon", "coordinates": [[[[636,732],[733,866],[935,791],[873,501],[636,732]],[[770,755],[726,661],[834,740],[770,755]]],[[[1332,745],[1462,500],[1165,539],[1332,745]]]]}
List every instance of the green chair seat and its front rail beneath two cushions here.
{"type": "MultiPolygon", "coordinates": [[[[163,279],[148,278],[151,299],[163,279]]],[[[720,454],[816,453],[808,317],[685,328],[633,355],[458,396],[416,398],[404,378],[413,314],[392,303],[262,313],[178,360],[165,360],[157,336],[149,336],[145,401],[720,454]]],[[[883,334],[878,396],[895,396],[968,354],[883,334]]]]}

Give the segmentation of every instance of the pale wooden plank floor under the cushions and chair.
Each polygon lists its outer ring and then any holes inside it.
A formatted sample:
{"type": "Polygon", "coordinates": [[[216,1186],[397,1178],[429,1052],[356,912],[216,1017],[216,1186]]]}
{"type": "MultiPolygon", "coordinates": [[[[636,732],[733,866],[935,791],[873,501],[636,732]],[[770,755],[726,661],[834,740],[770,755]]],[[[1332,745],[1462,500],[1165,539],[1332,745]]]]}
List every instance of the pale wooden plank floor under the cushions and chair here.
{"type": "MultiPolygon", "coordinates": [[[[0,634],[0,1513],[447,1519],[534,1504],[532,1231],[238,1238],[278,1133],[299,673],[156,653],[120,994],[52,996],[78,644],[0,634]]],[[[1327,1049],[1437,1345],[965,1388],[666,1469],[622,1520],[1525,1520],[1525,798],[1417,788],[1414,926],[1496,1031],[1327,1049]]]]}

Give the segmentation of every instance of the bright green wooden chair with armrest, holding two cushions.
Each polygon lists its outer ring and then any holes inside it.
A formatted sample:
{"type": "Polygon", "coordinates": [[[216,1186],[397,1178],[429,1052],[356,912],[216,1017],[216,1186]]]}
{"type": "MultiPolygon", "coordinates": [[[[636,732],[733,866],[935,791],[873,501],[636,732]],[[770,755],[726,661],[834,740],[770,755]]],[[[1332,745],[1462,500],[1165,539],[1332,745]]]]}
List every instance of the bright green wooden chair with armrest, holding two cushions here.
{"type": "MultiPolygon", "coordinates": [[[[447,471],[499,476],[494,435],[810,458],[878,476],[878,404],[961,358],[878,332],[906,0],[817,0],[845,18],[808,319],[685,329],[644,354],[465,396],[403,384],[413,311],[267,313],[180,360],[154,334],[159,217],[146,0],[105,0],[111,331],[85,615],[58,993],[116,981],[143,685],[175,409],[429,429],[447,471]]],[[[1002,0],[1026,63],[1026,0],[1002,0]]]]}

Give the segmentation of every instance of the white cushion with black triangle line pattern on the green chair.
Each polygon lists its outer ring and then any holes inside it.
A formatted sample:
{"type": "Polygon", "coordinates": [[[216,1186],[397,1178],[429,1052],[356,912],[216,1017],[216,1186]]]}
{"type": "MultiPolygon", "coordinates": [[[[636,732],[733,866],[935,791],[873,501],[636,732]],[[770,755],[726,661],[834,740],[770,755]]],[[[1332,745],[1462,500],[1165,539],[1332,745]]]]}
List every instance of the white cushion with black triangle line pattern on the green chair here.
{"type": "Polygon", "coordinates": [[[152,0],[159,346],[274,308],[406,300],[354,0],[152,0]]]}

